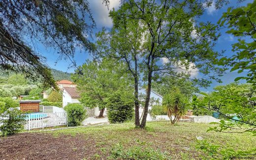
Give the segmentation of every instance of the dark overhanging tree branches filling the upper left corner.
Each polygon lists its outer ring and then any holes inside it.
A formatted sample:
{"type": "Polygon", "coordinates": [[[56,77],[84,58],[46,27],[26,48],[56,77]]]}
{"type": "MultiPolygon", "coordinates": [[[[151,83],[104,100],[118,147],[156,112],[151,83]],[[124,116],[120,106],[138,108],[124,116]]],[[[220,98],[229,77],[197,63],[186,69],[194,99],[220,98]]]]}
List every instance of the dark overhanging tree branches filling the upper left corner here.
{"type": "Polygon", "coordinates": [[[42,77],[55,86],[36,44],[53,47],[60,54],[57,61],[69,59],[75,65],[77,45],[93,49],[87,37],[94,26],[87,0],[1,0],[0,69],[42,77]]]}

